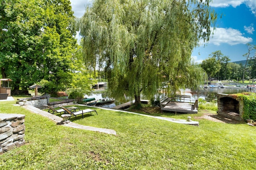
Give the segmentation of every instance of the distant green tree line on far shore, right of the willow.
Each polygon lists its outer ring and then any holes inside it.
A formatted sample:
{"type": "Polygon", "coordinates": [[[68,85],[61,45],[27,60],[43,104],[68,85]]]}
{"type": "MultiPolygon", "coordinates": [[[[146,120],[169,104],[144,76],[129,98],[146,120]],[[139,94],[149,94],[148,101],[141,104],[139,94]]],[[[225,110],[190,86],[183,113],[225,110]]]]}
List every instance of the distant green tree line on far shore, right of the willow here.
{"type": "MultiPolygon", "coordinates": [[[[222,54],[221,51],[212,52],[207,59],[202,61],[201,67],[208,75],[208,79],[216,78],[217,80],[254,80],[256,78],[256,45],[246,44],[248,53],[243,56],[246,57],[246,63],[232,63],[229,62],[228,56],[222,54]]],[[[242,60],[242,58],[241,58],[242,60]]]]}

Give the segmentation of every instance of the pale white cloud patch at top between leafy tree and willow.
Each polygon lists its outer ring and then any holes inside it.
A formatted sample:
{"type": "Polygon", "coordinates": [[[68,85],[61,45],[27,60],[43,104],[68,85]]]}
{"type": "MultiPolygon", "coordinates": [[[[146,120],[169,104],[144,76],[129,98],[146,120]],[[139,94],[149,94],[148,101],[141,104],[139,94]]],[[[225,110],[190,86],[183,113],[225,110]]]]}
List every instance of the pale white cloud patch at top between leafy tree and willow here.
{"type": "Polygon", "coordinates": [[[70,0],[74,16],[81,18],[84,15],[86,6],[92,4],[92,0],[70,0]]]}

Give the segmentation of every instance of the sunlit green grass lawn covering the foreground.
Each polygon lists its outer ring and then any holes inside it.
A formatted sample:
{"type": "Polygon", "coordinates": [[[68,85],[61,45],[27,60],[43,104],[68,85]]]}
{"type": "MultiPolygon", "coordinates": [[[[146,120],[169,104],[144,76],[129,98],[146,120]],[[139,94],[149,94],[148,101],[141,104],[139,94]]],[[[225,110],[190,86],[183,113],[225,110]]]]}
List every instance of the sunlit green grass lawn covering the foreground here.
{"type": "MultiPolygon", "coordinates": [[[[56,125],[46,117],[13,106],[15,102],[0,102],[0,113],[26,115],[26,145],[0,154],[1,170],[250,170],[256,167],[256,127],[246,124],[200,119],[196,127],[100,108],[95,108],[98,115],[70,119],[81,125],[114,129],[117,133],[108,135],[56,125]]],[[[191,116],[194,120],[194,116],[202,113],[155,115],[178,119],[191,116]]]]}

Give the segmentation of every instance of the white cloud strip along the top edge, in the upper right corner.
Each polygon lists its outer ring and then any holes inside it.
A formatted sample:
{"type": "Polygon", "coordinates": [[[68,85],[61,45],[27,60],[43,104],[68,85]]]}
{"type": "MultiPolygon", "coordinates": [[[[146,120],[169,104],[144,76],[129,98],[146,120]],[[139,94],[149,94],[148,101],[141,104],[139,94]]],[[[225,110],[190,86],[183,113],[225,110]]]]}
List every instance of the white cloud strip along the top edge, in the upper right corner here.
{"type": "Polygon", "coordinates": [[[250,8],[252,13],[256,16],[256,0],[213,0],[210,3],[210,6],[213,6],[213,7],[233,6],[234,8],[236,8],[241,4],[246,4],[246,6],[250,8]]]}

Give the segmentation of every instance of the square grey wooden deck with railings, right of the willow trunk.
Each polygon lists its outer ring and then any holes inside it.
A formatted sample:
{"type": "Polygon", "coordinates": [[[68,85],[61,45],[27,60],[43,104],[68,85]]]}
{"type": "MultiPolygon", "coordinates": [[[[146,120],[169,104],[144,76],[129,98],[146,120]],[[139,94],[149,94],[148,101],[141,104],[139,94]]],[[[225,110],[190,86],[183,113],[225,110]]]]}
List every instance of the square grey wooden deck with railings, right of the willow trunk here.
{"type": "MultiPolygon", "coordinates": [[[[184,97],[183,97],[183,99],[184,99],[184,97]]],[[[175,100],[173,101],[173,100],[174,99],[166,98],[164,101],[162,101],[161,104],[160,104],[161,111],[173,111],[173,112],[182,112],[182,113],[198,113],[198,101],[197,100],[194,101],[194,103],[192,103],[191,99],[190,99],[190,102],[182,102],[182,101],[177,102],[177,101],[175,101],[175,100]]]]}

